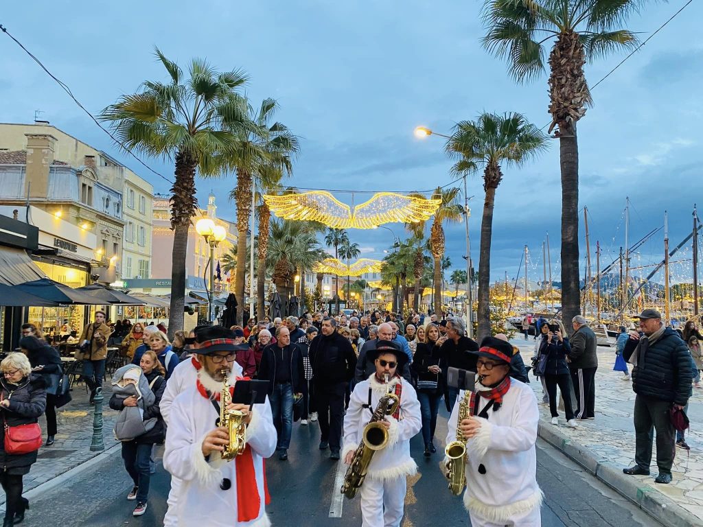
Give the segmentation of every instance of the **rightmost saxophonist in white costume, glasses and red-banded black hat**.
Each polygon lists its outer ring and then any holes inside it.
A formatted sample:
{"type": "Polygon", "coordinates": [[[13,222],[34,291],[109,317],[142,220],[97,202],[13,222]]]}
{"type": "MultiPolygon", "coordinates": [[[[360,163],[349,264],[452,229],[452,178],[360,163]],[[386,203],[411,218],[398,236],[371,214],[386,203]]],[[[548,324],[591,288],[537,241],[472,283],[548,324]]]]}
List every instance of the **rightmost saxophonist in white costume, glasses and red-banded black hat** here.
{"type": "MultiPolygon", "coordinates": [[[[512,346],[486,337],[477,358],[470,417],[459,426],[467,439],[464,506],[473,527],[540,527],[542,491],[537,485],[537,424],[534,392],[508,376],[512,346]]],[[[460,393],[460,400],[465,392],[460,393]]],[[[446,444],[456,438],[457,403],[446,444]]],[[[446,458],[444,460],[446,464],[446,458]]]]}

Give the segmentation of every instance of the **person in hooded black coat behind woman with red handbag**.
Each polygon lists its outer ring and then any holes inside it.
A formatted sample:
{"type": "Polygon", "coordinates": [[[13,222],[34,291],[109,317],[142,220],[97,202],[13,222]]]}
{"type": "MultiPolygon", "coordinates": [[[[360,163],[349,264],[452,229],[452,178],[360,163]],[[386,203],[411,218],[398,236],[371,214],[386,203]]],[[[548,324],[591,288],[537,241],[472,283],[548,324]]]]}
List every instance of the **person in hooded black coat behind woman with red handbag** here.
{"type": "Polygon", "coordinates": [[[20,348],[25,353],[32,371],[38,373],[46,381],[46,446],[53,445],[56,436],[56,391],[63,377],[61,357],[56,349],[36,337],[22,337],[20,348]]]}

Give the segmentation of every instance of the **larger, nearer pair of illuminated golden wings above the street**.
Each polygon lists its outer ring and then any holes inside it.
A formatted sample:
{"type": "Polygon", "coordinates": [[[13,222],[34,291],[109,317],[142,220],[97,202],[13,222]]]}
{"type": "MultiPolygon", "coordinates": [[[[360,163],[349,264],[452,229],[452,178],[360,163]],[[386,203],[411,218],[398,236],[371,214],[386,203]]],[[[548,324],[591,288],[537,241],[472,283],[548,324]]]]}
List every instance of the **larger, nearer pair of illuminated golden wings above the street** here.
{"type": "Polygon", "coordinates": [[[285,195],[264,195],[266,204],[279,218],[319,221],[331,228],[376,228],[382,223],[417,223],[430,219],[441,200],[382,192],[354,208],[325,190],[285,195]]]}

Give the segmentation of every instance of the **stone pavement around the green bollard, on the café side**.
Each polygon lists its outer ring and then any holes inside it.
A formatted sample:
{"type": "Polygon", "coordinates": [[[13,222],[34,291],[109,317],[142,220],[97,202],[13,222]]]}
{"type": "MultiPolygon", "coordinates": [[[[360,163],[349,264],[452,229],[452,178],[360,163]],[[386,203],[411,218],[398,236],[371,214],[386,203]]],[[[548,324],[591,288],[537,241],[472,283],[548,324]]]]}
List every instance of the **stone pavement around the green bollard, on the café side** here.
{"type": "MultiPolygon", "coordinates": [[[[112,434],[117,413],[110,410],[111,386],[110,377],[103,384],[103,442],[105,450],[117,443],[112,434]]],[[[24,479],[24,491],[31,490],[60,474],[77,467],[101,452],[91,452],[90,445],[93,437],[93,406],[89,401],[83,383],[73,386],[71,391],[72,401],[56,410],[58,421],[58,434],[56,443],[50,447],[42,446],[39,449],[37,462],[32,465],[30,473],[24,479]]],[[[46,417],[39,419],[39,425],[46,441],[46,417]]],[[[0,489],[0,505],[5,503],[5,493],[0,489]]]]}

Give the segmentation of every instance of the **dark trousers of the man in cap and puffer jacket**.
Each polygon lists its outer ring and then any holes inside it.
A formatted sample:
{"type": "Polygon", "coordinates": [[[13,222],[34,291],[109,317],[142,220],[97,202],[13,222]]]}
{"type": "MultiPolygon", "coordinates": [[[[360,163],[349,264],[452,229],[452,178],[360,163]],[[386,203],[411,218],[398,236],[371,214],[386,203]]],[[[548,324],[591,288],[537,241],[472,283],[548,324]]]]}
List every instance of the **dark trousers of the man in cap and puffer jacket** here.
{"type": "Polygon", "coordinates": [[[635,397],[635,462],[638,467],[650,469],[652,462],[652,427],[657,431],[657,467],[659,472],[671,474],[674,451],[673,424],[669,418],[671,403],[652,397],[635,397]]]}

